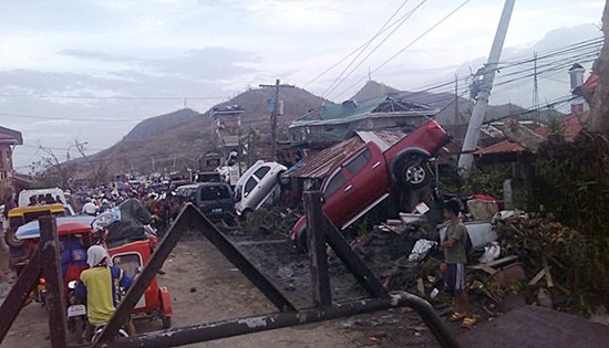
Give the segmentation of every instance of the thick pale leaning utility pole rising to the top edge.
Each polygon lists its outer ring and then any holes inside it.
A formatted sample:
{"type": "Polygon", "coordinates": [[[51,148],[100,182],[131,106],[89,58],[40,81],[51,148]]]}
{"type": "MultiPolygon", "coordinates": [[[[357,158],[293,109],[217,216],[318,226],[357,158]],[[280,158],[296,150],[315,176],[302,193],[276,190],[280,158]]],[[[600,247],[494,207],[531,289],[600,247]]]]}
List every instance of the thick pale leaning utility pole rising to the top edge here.
{"type": "Polygon", "coordinates": [[[491,89],[493,88],[493,80],[495,78],[495,72],[497,71],[497,64],[502,55],[502,50],[507,33],[507,27],[509,25],[509,19],[512,11],[514,10],[514,3],[516,0],[506,0],[497,32],[495,33],[495,40],[491,53],[488,54],[488,61],[483,67],[483,77],[479,84],[479,92],[476,94],[476,104],[472,110],[472,117],[467,126],[467,134],[465,140],[463,140],[463,148],[458,158],[458,168],[463,177],[467,177],[472,169],[472,162],[474,161],[474,155],[472,154],[478,145],[478,138],[481,133],[482,123],[486,114],[486,107],[488,106],[488,97],[491,96],[491,89]]]}

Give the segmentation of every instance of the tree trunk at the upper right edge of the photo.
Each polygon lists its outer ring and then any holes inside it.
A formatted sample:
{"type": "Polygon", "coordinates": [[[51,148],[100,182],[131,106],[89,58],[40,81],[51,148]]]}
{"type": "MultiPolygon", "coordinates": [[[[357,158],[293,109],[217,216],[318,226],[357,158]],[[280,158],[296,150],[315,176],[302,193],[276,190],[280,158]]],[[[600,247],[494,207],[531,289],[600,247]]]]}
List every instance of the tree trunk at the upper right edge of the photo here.
{"type": "Polygon", "coordinates": [[[599,82],[592,93],[585,96],[590,104],[590,130],[609,135],[609,0],[606,1],[602,12],[602,49],[592,66],[599,82]]]}

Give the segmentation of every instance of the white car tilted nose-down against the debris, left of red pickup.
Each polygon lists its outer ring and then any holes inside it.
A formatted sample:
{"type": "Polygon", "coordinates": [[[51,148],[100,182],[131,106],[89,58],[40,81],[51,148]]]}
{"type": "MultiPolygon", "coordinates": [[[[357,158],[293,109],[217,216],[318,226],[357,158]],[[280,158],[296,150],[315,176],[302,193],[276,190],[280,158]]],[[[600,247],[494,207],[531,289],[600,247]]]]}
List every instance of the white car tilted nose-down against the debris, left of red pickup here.
{"type": "Polygon", "coordinates": [[[279,177],[286,166],[278,162],[258,160],[237,181],[235,186],[235,211],[246,217],[262,204],[272,204],[279,200],[279,177]]]}

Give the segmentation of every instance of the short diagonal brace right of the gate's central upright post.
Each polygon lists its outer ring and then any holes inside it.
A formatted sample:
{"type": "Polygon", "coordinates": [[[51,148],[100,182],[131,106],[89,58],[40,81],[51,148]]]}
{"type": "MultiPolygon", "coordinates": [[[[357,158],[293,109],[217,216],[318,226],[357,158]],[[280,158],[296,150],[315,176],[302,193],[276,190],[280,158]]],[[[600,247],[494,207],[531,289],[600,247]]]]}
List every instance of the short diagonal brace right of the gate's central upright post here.
{"type": "Polygon", "coordinates": [[[389,292],[379,281],[379,278],[370,271],[362,260],[351,250],[351,246],[344,241],[342,234],[324,215],[324,231],[328,244],[334,250],[337,256],[344,263],[347,268],[353,274],[355,280],[368,291],[371,296],[380,298],[389,298],[389,292]]]}

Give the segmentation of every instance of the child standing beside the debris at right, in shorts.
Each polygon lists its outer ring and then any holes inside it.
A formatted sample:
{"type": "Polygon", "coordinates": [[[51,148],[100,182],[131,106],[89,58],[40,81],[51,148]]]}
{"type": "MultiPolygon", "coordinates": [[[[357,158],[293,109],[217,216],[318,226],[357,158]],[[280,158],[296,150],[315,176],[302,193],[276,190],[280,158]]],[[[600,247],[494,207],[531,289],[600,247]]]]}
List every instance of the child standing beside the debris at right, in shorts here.
{"type": "Polygon", "coordinates": [[[457,201],[451,200],[444,204],[444,220],[448,221],[446,234],[440,247],[444,250],[444,264],[441,265],[442,274],[446,283],[446,292],[453,294],[454,313],[452,321],[462,320],[462,326],[471,328],[476,324],[476,318],[469,308],[469,297],[465,284],[465,265],[467,264],[466,240],[467,230],[458,218],[461,207],[457,201]]]}

